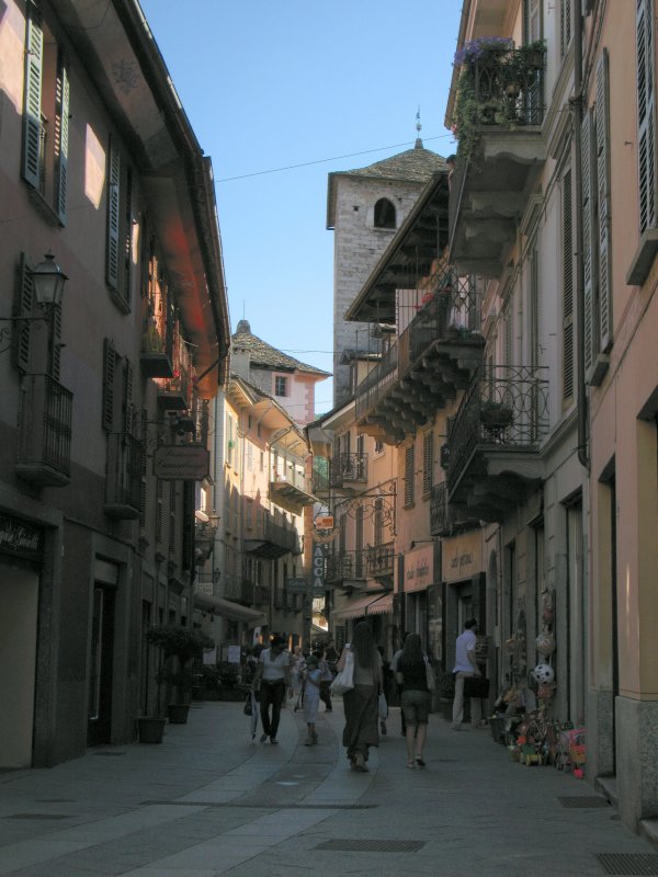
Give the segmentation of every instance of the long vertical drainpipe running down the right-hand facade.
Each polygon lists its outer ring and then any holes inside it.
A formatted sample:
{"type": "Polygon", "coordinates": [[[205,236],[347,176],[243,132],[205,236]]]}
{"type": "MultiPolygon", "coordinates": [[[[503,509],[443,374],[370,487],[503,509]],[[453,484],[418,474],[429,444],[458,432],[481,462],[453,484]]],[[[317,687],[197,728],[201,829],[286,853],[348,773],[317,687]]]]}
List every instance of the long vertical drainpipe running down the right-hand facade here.
{"type": "Polygon", "coordinates": [[[587,385],[585,380],[585,264],[582,261],[582,16],[580,3],[574,9],[574,98],[571,117],[574,119],[574,170],[576,184],[576,307],[577,307],[577,411],[578,411],[578,459],[589,469],[588,448],[588,407],[587,385]]]}

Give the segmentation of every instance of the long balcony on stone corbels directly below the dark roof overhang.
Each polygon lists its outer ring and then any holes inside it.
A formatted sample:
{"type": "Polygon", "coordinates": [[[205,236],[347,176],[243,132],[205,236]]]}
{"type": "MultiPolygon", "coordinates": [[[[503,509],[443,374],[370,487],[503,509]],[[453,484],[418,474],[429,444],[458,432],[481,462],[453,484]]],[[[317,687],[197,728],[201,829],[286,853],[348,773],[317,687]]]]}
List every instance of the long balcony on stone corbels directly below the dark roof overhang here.
{"type": "Polygon", "coordinates": [[[481,362],[475,281],[441,263],[420,292],[397,343],[356,388],[359,426],[393,444],[454,400],[481,362]]]}

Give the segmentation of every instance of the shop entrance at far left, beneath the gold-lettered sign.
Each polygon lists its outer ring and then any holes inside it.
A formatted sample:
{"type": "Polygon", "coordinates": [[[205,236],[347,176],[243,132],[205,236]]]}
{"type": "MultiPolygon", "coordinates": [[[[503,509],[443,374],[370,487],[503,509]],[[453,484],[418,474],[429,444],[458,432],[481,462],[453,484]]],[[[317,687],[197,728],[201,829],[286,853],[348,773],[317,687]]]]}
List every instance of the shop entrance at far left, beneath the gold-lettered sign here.
{"type": "Polygon", "coordinates": [[[38,573],[0,562],[0,767],[31,767],[38,573]]]}

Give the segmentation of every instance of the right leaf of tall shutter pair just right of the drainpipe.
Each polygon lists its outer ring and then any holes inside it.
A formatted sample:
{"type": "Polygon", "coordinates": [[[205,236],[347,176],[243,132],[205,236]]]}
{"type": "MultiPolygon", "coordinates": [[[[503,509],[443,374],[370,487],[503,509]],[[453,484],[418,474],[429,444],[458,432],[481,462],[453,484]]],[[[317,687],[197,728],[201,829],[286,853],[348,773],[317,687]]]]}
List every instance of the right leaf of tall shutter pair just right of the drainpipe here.
{"type": "Polygon", "coordinates": [[[608,49],[597,62],[597,190],[599,210],[599,348],[612,345],[612,272],[610,236],[610,121],[608,49]]]}

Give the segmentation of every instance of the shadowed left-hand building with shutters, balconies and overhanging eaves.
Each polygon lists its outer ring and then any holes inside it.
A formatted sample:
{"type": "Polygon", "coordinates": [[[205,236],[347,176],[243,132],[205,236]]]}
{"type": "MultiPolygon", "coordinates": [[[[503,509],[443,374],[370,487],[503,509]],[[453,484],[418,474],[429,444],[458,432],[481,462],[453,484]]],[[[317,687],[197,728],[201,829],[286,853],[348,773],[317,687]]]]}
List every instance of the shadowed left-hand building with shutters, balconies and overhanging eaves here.
{"type": "Polygon", "coordinates": [[[0,55],[0,766],[25,767],[134,740],[143,634],[191,623],[229,327],[211,163],[138,3],[10,0],[0,55]]]}

